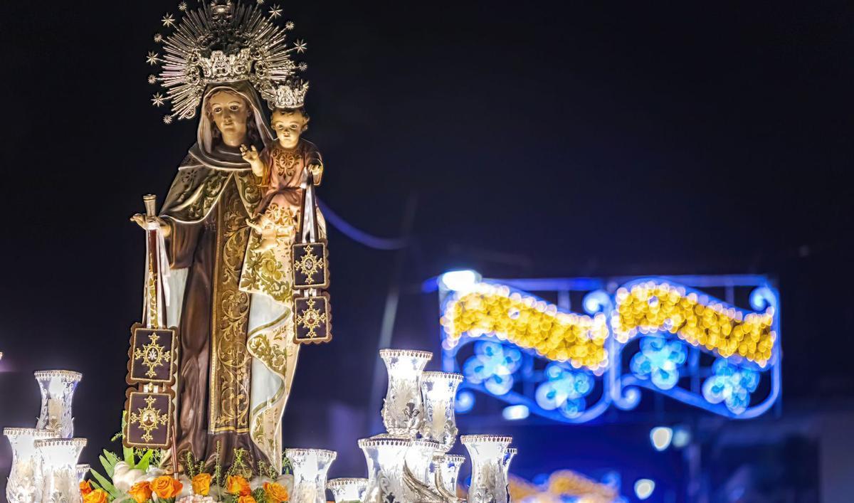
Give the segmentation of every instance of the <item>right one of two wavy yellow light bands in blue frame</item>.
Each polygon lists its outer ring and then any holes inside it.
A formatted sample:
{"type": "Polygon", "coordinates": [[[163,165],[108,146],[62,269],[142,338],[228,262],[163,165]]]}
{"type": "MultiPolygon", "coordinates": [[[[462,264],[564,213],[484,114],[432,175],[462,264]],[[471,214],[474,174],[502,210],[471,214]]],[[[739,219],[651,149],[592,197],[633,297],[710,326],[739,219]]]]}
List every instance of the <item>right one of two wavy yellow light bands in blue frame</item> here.
{"type": "Polygon", "coordinates": [[[745,314],[705,295],[654,281],[617,290],[616,301],[611,326],[619,342],[628,342],[638,332],[667,331],[724,358],[738,354],[762,367],[771,359],[777,338],[771,330],[773,307],[745,314]]]}

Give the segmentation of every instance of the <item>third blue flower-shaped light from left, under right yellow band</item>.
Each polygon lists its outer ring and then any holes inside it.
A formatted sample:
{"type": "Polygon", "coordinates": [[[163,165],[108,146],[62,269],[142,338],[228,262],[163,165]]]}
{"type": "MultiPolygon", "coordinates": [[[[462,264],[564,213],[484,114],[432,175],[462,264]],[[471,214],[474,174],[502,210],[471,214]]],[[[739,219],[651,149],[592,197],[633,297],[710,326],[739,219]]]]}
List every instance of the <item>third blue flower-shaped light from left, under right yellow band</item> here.
{"type": "Polygon", "coordinates": [[[670,389],[679,382],[679,369],[685,365],[687,349],[681,341],[659,336],[640,339],[640,353],[629,364],[635,376],[650,379],[660,389],[670,389]]]}

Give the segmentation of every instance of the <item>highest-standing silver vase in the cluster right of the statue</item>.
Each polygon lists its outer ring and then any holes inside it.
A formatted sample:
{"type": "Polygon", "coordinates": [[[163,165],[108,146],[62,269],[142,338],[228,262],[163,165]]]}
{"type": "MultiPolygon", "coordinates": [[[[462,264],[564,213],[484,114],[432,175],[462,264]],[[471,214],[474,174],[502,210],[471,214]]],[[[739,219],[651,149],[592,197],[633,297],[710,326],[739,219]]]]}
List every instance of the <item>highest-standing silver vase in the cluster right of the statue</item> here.
{"type": "Polygon", "coordinates": [[[380,358],[389,372],[389,389],[383,401],[383,424],[391,436],[415,438],[423,406],[419,385],[424,366],[433,358],[427,351],[382,349],[380,358]]]}

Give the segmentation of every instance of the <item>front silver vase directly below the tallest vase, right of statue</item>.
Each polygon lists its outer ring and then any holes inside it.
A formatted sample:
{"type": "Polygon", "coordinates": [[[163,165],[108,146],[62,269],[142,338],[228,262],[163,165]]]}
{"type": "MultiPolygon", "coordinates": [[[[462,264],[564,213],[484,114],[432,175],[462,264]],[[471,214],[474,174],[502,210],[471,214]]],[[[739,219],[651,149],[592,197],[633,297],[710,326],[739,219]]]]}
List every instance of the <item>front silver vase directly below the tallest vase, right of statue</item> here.
{"type": "Polygon", "coordinates": [[[375,436],[359,441],[368,465],[365,503],[408,503],[403,471],[410,442],[407,437],[394,436],[375,436]]]}

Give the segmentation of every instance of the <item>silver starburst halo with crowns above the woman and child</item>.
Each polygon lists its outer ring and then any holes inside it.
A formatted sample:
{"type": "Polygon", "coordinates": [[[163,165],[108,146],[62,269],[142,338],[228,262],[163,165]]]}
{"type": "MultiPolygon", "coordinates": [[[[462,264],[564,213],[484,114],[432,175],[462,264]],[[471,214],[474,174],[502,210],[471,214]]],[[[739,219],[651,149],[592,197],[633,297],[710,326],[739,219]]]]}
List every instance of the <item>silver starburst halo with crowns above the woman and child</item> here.
{"type": "MultiPolygon", "coordinates": [[[[307,44],[287,40],[286,31],[293,23],[277,24],[275,18],[280,15],[266,15],[254,0],[206,0],[198,9],[178,12],[183,16],[170,20],[174,30],[163,35],[162,53],[152,51],[146,58],[149,65],[162,65],[149,82],[163,87],[163,104],[168,102],[174,119],[194,118],[208,85],[243,80],[271,103],[299,102],[294,106],[301,106],[307,83],[292,83],[305,65],[291,56],[306,50],[307,44]],[[290,91],[278,91],[289,85],[290,91]]],[[[161,22],[171,17],[164,16],[161,22]]]]}

